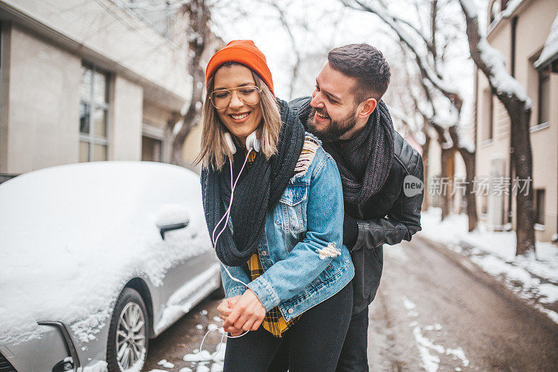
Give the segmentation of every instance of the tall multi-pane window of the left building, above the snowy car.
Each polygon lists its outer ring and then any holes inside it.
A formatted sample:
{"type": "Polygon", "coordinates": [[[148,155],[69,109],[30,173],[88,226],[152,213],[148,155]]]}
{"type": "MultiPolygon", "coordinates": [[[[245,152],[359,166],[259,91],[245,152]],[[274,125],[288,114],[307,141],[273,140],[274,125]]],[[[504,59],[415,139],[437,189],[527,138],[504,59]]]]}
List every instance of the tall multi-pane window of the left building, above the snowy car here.
{"type": "Polygon", "coordinates": [[[82,66],[80,84],[80,162],[107,160],[109,77],[82,66]]]}

